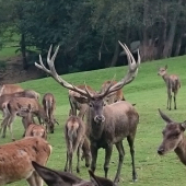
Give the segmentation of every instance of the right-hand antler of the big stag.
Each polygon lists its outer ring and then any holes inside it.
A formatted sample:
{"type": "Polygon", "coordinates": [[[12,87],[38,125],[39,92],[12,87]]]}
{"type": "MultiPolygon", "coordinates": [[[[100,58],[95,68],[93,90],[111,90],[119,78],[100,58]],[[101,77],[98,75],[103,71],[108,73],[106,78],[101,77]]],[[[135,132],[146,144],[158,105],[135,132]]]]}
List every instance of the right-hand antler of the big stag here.
{"type": "Polygon", "coordinates": [[[108,85],[108,88],[101,94],[98,94],[100,97],[104,97],[113,92],[118,91],[119,89],[121,89],[124,85],[130,83],[137,75],[138,73],[138,67],[140,65],[141,61],[141,57],[139,54],[139,49],[138,49],[138,62],[136,62],[133,56],[131,55],[130,50],[128,49],[127,45],[123,45],[119,40],[118,40],[119,45],[124,48],[126,55],[127,55],[127,59],[128,59],[128,73],[116,84],[113,84],[113,81],[111,82],[111,84],[108,85]]]}

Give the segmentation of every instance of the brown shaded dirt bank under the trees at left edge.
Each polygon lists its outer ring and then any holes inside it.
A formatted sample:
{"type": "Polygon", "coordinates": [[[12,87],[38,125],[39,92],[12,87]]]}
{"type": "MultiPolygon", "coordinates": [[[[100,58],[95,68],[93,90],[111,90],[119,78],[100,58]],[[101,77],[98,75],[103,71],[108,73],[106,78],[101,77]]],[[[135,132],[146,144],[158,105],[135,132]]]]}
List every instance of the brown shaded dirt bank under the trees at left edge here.
{"type": "Polygon", "coordinates": [[[44,73],[34,65],[23,70],[22,58],[16,56],[7,60],[5,69],[0,69],[1,83],[21,83],[43,77],[44,73]]]}

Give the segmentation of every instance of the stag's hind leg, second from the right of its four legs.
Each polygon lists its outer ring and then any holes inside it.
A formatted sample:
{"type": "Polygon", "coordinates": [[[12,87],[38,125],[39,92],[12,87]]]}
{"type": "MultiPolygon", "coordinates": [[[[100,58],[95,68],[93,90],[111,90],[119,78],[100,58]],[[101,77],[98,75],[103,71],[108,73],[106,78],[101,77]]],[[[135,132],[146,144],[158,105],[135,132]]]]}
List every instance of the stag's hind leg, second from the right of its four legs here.
{"type": "Polygon", "coordinates": [[[117,173],[116,173],[114,183],[118,183],[119,182],[120,170],[121,170],[123,162],[124,162],[125,151],[124,151],[123,141],[117,142],[116,143],[116,148],[117,148],[117,150],[119,152],[119,163],[118,163],[117,173]]]}

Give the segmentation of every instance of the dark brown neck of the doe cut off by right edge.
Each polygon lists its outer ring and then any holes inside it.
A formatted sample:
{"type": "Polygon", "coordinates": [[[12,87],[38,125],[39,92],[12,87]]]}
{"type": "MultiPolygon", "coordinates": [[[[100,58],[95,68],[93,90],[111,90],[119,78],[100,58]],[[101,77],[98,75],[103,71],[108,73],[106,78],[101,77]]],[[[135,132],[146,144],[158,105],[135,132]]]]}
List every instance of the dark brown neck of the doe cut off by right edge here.
{"type": "Polygon", "coordinates": [[[182,163],[186,165],[186,137],[184,136],[183,141],[174,150],[182,163]]]}

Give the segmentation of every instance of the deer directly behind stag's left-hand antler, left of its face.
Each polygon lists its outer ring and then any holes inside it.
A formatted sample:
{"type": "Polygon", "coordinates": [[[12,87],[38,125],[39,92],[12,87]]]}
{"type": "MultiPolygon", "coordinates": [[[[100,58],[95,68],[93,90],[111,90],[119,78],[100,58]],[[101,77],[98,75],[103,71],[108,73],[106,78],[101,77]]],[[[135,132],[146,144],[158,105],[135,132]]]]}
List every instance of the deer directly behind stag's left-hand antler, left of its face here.
{"type": "MultiPolygon", "coordinates": [[[[86,85],[77,85],[77,88],[85,90],[88,89],[90,92],[94,93],[94,90],[86,85]]],[[[79,94],[78,92],[74,92],[72,90],[69,90],[69,103],[71,106],[71,109],[69,112],[69,116],[73,115],[77,116],[77,111],[79,111],[78,117],[80,118],[84,118],[86,108],[88,108],[88,104],[86,103],[81,103],[81,98],[83,95],[79,94]]],[[[84,97],[84,96],[83,96],[84,97]]],[[[84,97],[86,98],[86,97],[84,97]]]]}

